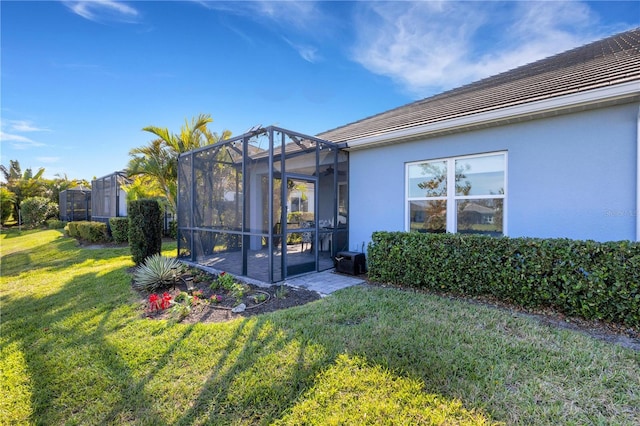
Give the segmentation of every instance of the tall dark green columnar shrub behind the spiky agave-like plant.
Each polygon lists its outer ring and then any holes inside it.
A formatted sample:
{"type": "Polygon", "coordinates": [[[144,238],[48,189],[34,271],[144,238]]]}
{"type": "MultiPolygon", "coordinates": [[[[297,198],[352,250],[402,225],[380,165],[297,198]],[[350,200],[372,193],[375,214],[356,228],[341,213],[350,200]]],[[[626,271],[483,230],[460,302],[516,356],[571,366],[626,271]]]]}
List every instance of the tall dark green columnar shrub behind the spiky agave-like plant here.
{"type": "Polygon", "coordinates": [[[162,209],[156,200],[129,203],[129,247],[136,265],[162,250],[162,209]]]}

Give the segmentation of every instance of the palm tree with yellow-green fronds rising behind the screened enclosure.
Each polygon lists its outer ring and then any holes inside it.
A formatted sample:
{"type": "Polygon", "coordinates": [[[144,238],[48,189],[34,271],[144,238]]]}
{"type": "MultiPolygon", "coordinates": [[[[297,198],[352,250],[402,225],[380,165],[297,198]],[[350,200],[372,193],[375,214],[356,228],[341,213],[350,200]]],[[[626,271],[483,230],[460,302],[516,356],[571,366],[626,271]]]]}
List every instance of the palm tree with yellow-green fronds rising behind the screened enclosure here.
{"type": "Polygon", "coordinates": [[[156,182],[172,213],[176,212],[178,198],[178,156],[231,136],[228,130],[224,130],[221,136],[211,132],[207,128],[211,122],[210,115],[200,114],[191,123],[185,120],[179,134],[171,133],[166,127],[145,127],[142,130],[154,134],[157,139],[129,152],[133,158],[129,161],[127,174],[130,177],[145,176],[156,182]]]}

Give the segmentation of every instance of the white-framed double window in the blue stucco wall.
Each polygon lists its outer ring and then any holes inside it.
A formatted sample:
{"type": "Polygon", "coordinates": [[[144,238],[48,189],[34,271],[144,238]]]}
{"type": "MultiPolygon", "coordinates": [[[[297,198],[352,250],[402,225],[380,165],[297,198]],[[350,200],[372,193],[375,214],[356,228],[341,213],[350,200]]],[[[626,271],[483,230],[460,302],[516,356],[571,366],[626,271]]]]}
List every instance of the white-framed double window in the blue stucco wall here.
{"type": "Polygon", "coordinates": [[[503,235],[506,153],[406,166],[408,231],[503,235]]]}

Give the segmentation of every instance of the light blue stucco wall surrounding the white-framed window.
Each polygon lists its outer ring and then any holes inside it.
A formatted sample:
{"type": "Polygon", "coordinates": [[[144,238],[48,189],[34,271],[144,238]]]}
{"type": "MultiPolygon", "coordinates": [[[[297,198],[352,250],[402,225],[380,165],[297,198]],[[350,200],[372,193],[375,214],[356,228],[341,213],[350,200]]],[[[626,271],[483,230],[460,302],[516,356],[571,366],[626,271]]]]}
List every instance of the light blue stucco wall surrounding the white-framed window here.
{"type": "Polygon", "coordinates": [[[405,163],[507,151],[506,235],[635,240],[638,104],[350,153],[350,243],[402,231],[405,163]]]}

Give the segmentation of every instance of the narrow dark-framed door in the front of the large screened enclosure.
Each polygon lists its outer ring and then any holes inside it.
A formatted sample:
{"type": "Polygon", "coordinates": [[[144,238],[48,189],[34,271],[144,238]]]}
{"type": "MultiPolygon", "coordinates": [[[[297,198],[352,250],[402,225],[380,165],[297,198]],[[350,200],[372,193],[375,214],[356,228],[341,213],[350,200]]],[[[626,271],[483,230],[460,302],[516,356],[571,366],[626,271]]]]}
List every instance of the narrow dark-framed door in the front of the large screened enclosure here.
{"type": "Polygon", "coordinates": [[[317,270],[317,179],[313,176],[287,175],[283,211],[287,220],[283,261],[287,276],[317,270]]]}

